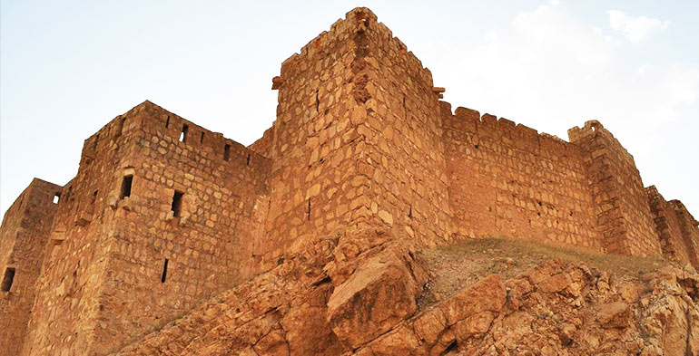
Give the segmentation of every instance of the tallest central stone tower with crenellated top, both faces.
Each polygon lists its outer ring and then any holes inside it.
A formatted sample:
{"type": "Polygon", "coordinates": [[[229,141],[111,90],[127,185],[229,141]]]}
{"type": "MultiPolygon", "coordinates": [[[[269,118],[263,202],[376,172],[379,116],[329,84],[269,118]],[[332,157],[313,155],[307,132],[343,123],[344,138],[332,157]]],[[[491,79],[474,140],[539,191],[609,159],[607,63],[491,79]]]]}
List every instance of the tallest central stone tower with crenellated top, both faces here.
{"type": "Polygon", "coordinates": [[[450,238],[439,94],[369,9],[308,43],[273,82],[277,120],[251,145],[273,162],[262,260],[348,225],[425,245],[450,238]]]}

